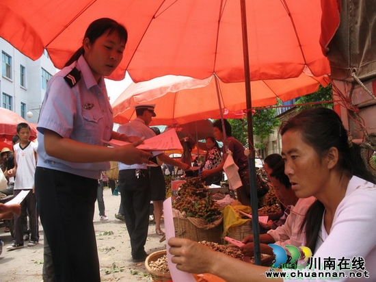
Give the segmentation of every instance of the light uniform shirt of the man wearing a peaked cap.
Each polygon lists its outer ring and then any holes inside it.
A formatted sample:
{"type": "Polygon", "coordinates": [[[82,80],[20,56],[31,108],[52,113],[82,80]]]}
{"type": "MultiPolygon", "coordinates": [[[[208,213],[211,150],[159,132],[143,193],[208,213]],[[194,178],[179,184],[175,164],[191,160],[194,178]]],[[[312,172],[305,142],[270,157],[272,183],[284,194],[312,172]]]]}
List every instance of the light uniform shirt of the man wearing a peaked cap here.
{"type": "MultiPolygon", "coordinates": [[[[144,137],[145,139],[152,138],[156,136],[154,130],[152,130],[150,127],[148,127],[144,120],[141,118],[135,118],[135,120],[132,120],[131,123],[126,123],[124,125],[120,125],[118,128],[119,133],[124,133],[128,136],[138,136],[139,138],[144,137]]],[[[163,151],[154,151],[150,152],[152,155],[159,155],[163,153],[163,151]]],[[[135,168],[141,168],[146,169],[148,168],[146,164],[123,164],[119,163],[119,170],[124,169],[135,169],[135,168]]]]}

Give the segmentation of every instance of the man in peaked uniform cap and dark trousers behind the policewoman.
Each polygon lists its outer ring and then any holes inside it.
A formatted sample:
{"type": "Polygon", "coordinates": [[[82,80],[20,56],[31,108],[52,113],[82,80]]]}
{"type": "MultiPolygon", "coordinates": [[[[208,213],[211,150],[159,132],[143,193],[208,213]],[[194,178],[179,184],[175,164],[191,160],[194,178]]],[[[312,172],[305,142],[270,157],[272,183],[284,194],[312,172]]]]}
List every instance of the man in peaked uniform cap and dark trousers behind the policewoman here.
{"type": "MultiPolygon", "coordinates": [[[[135,106],[135,120],[121,125],[120,134],[140,138],[152,138],[155,131],[150,129],[152,117],[155,114],[155,105],[141,104],[135,106]]],[[[154,151],[161,162],[178,166],[187,170],[189,165],[171,159],[163,151],[154,151]]],[[[126,229],[131,238],[131,255],[133,262],[144,261],[148,254],[145,251],[146,238],[148,237],[149,205],[150,205],[150,178],[146,164],[119,164],[119,188],[121,207],[124,211],[126,229]]]]}

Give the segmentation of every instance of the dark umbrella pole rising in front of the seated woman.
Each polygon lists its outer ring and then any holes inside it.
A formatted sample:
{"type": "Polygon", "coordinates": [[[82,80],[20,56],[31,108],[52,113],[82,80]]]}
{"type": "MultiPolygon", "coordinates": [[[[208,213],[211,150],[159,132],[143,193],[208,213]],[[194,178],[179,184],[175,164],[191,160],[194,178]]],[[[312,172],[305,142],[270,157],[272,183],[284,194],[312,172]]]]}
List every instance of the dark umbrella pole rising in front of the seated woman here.
{"type": "Polygon", "coordinates": [[[252,229],[254,239],[254,264],[261,265],[260,254],[260,229],[258,225],[258,198],[256,188],[256,165],[253,138],[253,120],[252,120],[252,99],[251,99],[251,78],[250,78],[250,57],[248,54],[247,38],[247,17],[245,10],[245,0],[240,0],[241,7],[241,31],[243,35],[243,60],[244,60],[244,81],[245,81],[245,99],[247,103],[247,125],[248,125],[248,145],[250,155],[248,155],[248,173],[250,176],[250,194],[252,208],[252,229]]]}

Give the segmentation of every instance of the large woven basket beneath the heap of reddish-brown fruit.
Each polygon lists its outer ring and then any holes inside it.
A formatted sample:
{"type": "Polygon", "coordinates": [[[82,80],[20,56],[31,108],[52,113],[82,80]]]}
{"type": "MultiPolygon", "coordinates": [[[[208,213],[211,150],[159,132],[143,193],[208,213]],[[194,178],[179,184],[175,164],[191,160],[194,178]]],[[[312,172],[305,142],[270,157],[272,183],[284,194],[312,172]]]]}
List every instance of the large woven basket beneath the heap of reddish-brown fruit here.
{"type": "Polygon", "coordinates": [[[209,241],[221,244],[223,225],[211,229],[201,229],[193,225],[187,218],[174,218],[175,235],[179,238],[186,238],[192,241],[209,241]]]}

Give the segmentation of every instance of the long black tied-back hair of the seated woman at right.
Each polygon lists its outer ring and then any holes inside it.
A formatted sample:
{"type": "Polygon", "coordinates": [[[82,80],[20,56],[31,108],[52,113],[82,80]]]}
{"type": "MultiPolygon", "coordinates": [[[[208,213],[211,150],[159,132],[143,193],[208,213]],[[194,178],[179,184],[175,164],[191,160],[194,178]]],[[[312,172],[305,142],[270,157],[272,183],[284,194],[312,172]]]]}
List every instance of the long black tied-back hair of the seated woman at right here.
{"type": "MultiPolygon", "coordinates": [[[[332,147],[338,149],[338,166],[342,169],[343,175],[356,175],[375,183],[375,177],[367,170],[362,160],[360,147],[356,144],[349,146],[347,130],[333,110],[318,107],[300,112],[281,125],[280,133],[283,136],[290,130],[299,131],[304,142],[312,146],[320,157],[332,147]]],[[[306,231],[306,246],[312,252],[316,248],[324,210],[323,203],[315,201],[308,209],[300,227],[300,231],[306,231]]]]}

